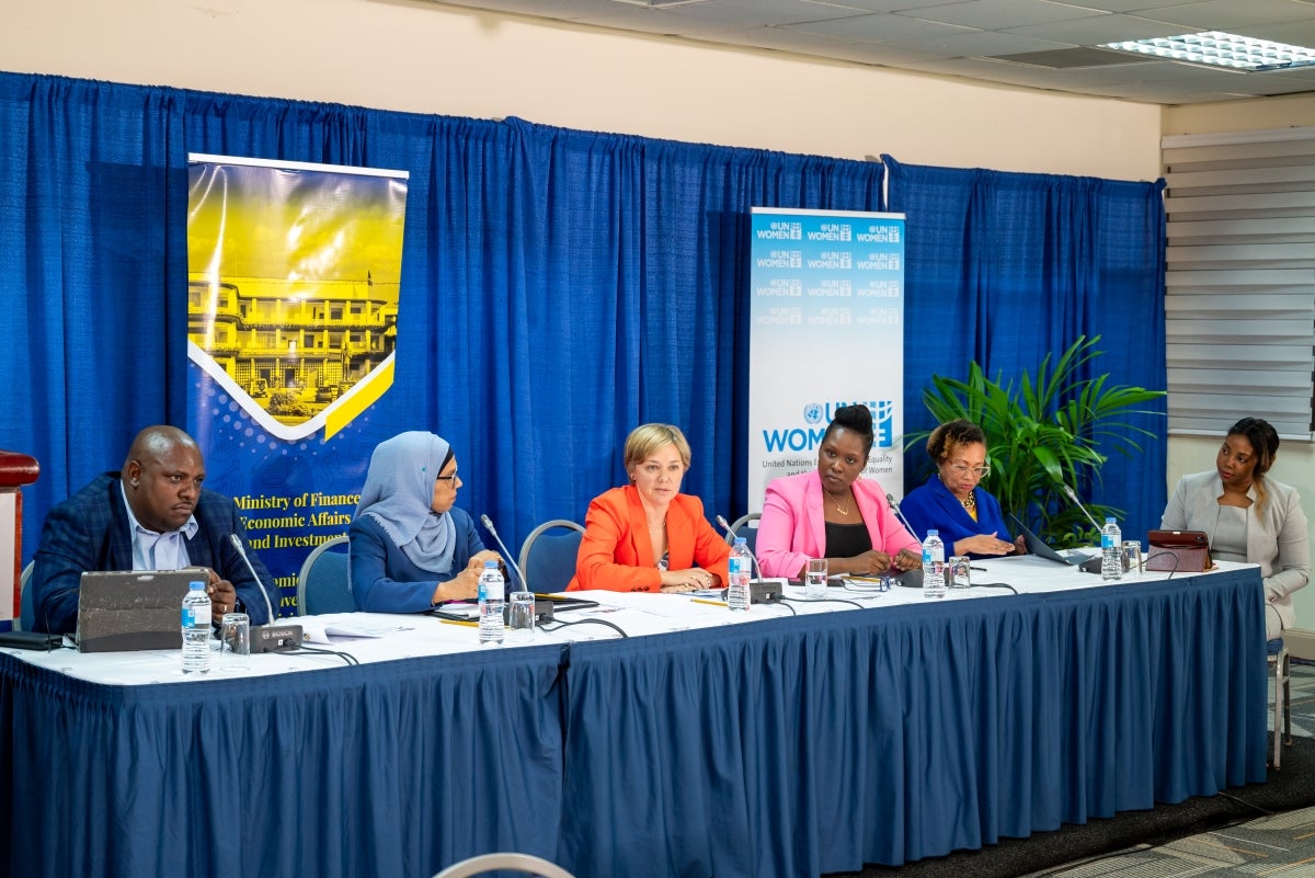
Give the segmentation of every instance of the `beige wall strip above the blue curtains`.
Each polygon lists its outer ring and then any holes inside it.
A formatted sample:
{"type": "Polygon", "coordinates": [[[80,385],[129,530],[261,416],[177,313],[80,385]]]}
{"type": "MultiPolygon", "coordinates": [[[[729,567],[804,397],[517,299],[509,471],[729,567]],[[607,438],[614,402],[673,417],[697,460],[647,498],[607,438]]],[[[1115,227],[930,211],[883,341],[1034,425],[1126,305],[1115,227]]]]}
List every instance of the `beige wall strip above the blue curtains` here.
{"type": "Polygon", "coordinates": [[[1160,108],[423,0],[9,4],[0,68],[861,159],[1151,180],[1160,108]]]}

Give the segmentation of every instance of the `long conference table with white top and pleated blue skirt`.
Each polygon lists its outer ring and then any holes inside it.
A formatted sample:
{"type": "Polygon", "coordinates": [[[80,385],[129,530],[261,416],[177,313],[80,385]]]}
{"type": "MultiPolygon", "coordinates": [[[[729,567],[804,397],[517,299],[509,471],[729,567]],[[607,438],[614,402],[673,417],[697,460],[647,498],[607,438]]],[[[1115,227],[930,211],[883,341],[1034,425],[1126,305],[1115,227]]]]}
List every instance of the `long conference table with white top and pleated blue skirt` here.
{"type": "Polygon", "coordinates": [[[982,566],[1019,594],[732,614],[585,593],[562,619],[631,636],[525,647],[317,616],[318,648],[359,665],[217,657],[199,680],[176,651],[3,649],[0,850],[32,878],[425,878],[490,850],[579,878],[798,878],[1265,779],[1258,568],[982,566]]]}

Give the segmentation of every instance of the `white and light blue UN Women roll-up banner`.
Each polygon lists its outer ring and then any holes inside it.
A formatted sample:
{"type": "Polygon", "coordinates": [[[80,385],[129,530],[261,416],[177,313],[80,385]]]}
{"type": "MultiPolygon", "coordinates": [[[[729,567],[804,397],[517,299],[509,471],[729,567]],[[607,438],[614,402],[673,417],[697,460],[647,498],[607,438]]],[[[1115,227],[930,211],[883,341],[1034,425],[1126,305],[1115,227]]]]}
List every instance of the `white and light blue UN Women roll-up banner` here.
{"type": "Polygon", "coordinates": [[[863,472],[903,496],[903,214],[753,208],[747,509],[815,469],[835,410],[872,410],[863,472]]]}

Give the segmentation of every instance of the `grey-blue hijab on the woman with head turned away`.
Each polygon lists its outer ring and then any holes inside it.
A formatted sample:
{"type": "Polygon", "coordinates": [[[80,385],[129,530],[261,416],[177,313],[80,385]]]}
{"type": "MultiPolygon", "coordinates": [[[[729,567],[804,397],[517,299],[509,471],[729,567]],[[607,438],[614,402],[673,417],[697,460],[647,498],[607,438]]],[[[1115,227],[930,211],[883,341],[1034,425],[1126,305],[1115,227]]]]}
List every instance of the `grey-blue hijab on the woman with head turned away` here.
{"type": "Polygon", "coordinates": [[[452,450],[431,432],[402,432],[379,443],[370,456],[366,486],[356,517],[370,515],[412,563],[434,573],[448,573],[456,547],[450,513],[435,513],[434,481],[452,450]]]}

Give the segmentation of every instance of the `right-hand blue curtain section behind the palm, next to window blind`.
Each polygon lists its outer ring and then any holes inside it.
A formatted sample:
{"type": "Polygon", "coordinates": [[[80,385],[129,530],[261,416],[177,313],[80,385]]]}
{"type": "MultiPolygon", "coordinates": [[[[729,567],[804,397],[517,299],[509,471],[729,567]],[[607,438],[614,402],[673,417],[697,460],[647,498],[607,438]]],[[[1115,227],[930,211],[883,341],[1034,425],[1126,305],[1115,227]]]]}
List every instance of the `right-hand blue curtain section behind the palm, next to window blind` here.
{"type": "MultiPolygon", "coordinates": [[[[1162,183],[882,159],[888,209],[909,217],[906,430],[935,426],[919,402],[930,376],[967,379],[976,360],[989,377],[1035,377],[1080,335],[1101,335],[1105,351],[1084,377],[1165,389],[1162,183]]],[[[1124,510],[1130,538],[1159,527],[1166,499],[1165,400],[1141,407],[1157,414],[1127,421],[1157,439],[1135,436],[1140,455],[1110,453],[1101,480],[1077,486],[1124,510]]],[[[909,463],[909,481],[920,482],[926,453],[909,463]]]]}

